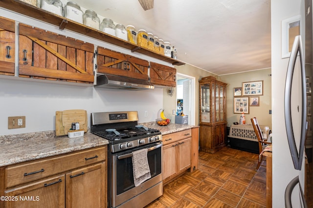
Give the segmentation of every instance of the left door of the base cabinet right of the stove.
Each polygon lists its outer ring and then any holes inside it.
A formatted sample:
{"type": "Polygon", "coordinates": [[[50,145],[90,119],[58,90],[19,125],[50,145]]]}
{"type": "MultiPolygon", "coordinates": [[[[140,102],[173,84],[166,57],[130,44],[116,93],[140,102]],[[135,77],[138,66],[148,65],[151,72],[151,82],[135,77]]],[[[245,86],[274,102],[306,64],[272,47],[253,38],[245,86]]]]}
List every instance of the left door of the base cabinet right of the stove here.
{"type": "Polygon", "coordinates": [[[172,143],[163,146],[163,180],[177,174],[177,144],[178,143],[172,143]]]}

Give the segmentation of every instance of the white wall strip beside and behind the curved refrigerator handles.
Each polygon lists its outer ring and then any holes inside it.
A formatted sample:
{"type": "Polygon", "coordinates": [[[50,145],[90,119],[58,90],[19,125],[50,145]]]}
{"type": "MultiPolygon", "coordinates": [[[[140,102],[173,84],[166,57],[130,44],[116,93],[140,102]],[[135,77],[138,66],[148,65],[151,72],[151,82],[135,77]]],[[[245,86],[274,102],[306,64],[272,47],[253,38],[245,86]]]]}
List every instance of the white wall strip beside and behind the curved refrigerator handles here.
{"type": "MultiPolygon", "coordinates": [[[[301,172],[294,170],[289,151],[285,116],[284,116],[284,87],[289,58],[281,58],[282,25],[281,21],[300,14],[300,1],[272,0],[271,1],[271,74],[272,74],[272,132],[273,132],[273,208],[284,207],[284,193],[287,184],[301,172]]],[[[297,66],[298,70],[299,65],[297,66]]],[[[297,73],[297,72],[295,72],[297,73]]],[[[296,85],[296,83],[295,83],[296,85]]],[[[298,130],[295,128],[296,134],[298,130]]],[[[297,143],[298,136],[295,136],[297,143]]],[[[293,206],[299,207],[299,195],[292,195],[293,206]]]]}

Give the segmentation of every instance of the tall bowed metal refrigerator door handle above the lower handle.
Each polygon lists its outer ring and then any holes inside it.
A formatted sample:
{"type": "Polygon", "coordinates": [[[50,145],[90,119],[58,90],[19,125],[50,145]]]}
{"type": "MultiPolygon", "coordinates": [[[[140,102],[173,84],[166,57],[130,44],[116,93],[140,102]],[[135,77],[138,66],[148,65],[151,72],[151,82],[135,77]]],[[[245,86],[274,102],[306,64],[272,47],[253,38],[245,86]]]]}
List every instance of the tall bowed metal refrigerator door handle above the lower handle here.
{"type": "Polygon", "coordinates": [[[304,54],[301,36],[296,36],[292,45],[291,55],[288,63],[286,85],[285,85],[285,125],[287,132],[287,139],[289,149],[291,152],[291,158],[294,169],[301,170],[303,154],[304,154],[304,143],[306,134],[306,117],[307,117],[307,96],[306,96],[306,83],[305,83],[305,65],[304,65],[304,54]],[[294,65],[297,58],[297,54],[300,54],[300,65],[301,65],[301,94],[302,94],[302,117],[301,117],[301,137],[299,151],[297,150],[296,143],[294,140],[293,127],[291,121],[291,86],[292,76],[294,72],[294,65]],[[298,153],[299,152],[299,153],[298,153]]]}

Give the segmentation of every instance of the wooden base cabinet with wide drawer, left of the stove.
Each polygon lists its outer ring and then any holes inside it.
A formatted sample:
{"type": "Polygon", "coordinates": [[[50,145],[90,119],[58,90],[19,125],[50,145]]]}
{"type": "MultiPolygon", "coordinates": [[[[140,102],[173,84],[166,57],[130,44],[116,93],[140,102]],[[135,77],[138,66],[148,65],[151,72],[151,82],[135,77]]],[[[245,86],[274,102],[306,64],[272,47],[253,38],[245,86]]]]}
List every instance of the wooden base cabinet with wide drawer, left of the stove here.
{"type": "Polygon", "coordinates": [[[0,205],[6,208],[106,208],[106,158],[105,146],[1,168],[0,175],[5,177],[1,178],[0,185],[5,186],[0,195],[17,200],[0,205]]]}

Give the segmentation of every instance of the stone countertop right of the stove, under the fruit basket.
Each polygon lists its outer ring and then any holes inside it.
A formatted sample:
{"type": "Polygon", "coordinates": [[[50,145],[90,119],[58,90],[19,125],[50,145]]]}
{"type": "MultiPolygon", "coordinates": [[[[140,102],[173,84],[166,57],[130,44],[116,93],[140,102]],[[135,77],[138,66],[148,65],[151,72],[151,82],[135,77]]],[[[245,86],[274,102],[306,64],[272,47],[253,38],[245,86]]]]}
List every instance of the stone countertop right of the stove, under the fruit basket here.
{"type": "Polygon", "coordinates": [[[158,129],[160,130],[162,135],[165,135],[168,133],[180,132],[186,129],[198,127],[198,126],[193,126],[193,125],[175,124],[175,123],[170,123],[167,126],[159,126],[156,124],[156,122],[140,123],[140,125],[143,125],[145,127],[152,128],[152,129],[158,129]]]}

